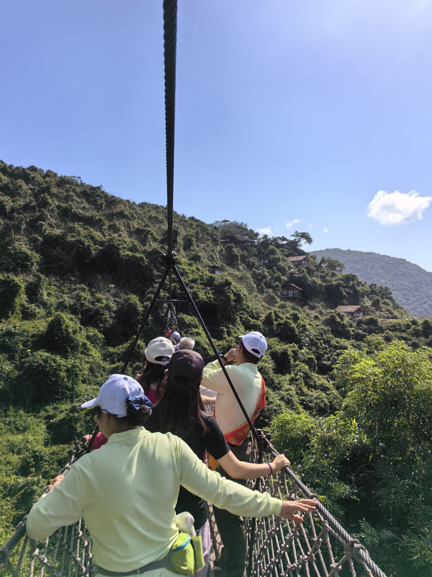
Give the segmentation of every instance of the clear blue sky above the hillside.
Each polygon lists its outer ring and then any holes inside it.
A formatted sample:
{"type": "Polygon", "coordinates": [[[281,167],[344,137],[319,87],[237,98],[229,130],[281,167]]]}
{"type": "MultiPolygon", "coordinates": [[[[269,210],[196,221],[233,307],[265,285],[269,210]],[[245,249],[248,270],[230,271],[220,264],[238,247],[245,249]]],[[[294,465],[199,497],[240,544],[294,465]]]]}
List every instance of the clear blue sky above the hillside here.
{"type": "MultiPolygon", "coordinates": [[[[162,2],[0,14],[0,158],[165,204],[162,2]]],[[[367,215],[432,196],[431,61],[430,0],[179,0],[175,209],[432,271],[429,201],[367,215]]]]}

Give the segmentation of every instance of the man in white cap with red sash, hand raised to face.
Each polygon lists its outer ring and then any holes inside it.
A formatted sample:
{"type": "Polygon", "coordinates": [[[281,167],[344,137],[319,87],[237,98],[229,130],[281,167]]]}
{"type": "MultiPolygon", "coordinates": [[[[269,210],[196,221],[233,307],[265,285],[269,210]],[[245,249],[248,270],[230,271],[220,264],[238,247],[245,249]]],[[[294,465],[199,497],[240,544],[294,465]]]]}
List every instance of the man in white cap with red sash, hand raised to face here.
{"type": "MultiPolygon", "coordinates": [[[[240,337],[236,349],[221,355],[224,365],[229,361],[236,361],[236,365],[226,366],[226,371],[252,422],[266,404],[266,385],[257,367],[266,350],[266,338],[260,332],[252,331],[240,337]]],[[[214,418],[233,455],[240,461],[251,463],[253,459],[251,430],[219,361],[210,362],[204,367],[203,373],[202,386],[217,393],[215,398],[204,397],[204,402],[214,403],[214,418]]],[[[222,463],[217,470],[225,478],[242,485],[246,484],[246,481],[234,479],[229,471],[223,469],[222,463]]],[[[240,515],[218,506],[213,510],[223,543],[219,560],[222,577],[242,577],[246,560],[244,520],[240,515]]]]}

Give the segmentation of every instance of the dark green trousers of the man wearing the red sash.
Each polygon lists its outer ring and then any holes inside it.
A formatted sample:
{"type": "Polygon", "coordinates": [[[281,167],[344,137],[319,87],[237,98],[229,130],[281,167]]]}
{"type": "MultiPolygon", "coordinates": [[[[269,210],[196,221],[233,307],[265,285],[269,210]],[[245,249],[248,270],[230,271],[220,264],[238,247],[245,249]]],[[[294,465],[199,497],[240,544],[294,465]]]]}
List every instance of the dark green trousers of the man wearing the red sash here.
{"type": "MultiPolygon", "coordinates": [[[[243,441],[241,445],[229,445],[229,448],[239,461],[252,463],[252,443],[250,439],[243,441]]],[[[221,477],[226,477],[231,481],[246,485],[247,481],[242,479],[233,479],[219,465],[217,469],[221,477]]],[[[246,561],[246,534],[245,523],[242,517],[233,515],[225,509],[213,507],[214,518],[218,526],[219,534],[222,539],[222,553],[219,560],[219,567],[222,571],[215,572],[215,575],[221,577],[242,577],[245,570],[246,561]]]]}

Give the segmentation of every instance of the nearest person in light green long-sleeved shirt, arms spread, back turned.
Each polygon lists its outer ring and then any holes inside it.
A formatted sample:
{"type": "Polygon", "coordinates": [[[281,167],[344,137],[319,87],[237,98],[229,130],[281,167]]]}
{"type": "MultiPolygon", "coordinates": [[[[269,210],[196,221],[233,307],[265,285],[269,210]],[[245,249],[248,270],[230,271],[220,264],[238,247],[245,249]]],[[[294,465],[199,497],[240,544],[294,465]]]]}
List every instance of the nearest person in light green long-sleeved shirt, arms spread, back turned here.
{"type": "MultiPolygon", "coordinates": [[[[251,491],[207,469],[179,437],[150,433],[142,426],[149,415],[141,385],[112,375],[96,399],[97,423],[107,444],[84,455],[65,478],[60,475],[28,516],[27,533],[44,539],[59,527],[84,517],[93,539],[98,572],[119,577],[163,559],[179,533],[175,505],[179,487],[237,515],[281,515],[301,522],[296,511],[315,508],[312,500],[281,501],[251,491]],[[140,422],[141,421],[141,422],[140,422]]],[[[161,567],[147,577],[168,577],[161,567]]]]}

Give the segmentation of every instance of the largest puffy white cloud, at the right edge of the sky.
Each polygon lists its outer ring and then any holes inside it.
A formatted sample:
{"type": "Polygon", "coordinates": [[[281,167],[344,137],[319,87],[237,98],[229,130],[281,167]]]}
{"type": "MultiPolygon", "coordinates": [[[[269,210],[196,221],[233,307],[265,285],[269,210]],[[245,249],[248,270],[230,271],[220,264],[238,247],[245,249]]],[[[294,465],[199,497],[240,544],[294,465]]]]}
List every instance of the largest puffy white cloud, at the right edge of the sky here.
{"type": "Polygon", "coordinates": [[[400,224],[422,220],[423,212],[429,207],[431,196],[419,196],[415,190],[406,194],[395,190],[389,193],[378,190],[369,203],[367,216],[380,224],[400,224]]]}

